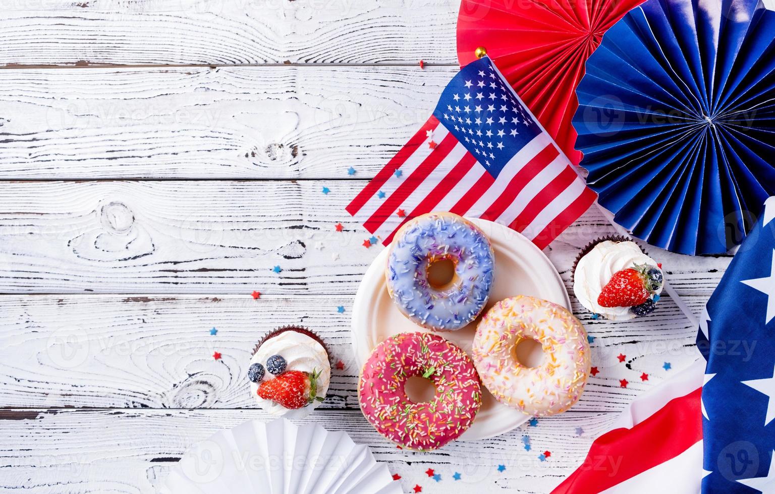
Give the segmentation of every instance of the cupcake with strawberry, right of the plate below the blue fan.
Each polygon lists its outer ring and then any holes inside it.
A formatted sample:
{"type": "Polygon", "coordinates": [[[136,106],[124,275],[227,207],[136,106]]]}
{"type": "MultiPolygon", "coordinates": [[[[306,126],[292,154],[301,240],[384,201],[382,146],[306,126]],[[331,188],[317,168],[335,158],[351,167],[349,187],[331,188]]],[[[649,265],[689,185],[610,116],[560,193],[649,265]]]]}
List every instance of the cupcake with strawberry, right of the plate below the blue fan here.
{"type": "Polygon", "coordinates": [[[629,238],[600,238],[580,252],[573,281],[576,298],[587,310],[611,321],[629,321],[656,308],[662,265],[629,238]]]}

